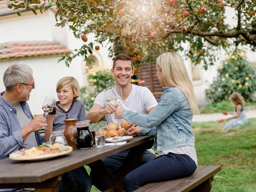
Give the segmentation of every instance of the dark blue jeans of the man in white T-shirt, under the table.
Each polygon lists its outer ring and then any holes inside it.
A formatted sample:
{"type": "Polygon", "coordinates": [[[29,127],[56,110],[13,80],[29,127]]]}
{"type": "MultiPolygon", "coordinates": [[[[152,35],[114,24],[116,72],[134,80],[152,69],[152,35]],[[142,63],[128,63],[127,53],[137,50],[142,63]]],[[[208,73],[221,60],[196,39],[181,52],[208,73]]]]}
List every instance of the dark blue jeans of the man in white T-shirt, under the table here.
{"type": "MultiPolygon", "coordinates": [[[[105,164],[105,166],[109,169],[109,171],[111,171],[111,173],[115,175],[116,172],[118,172],[118,170],[121,168],[122,163],[125,161],[128,152],[129,150],[116,153],[114,155],[102,159],[102,161],[105,164]]],[[[143,155],[143,158],[140,160],[140,165],[148,163],[154,158],[156,158],[155,154],[146,151],[145,154],[143,155]]],[[[102,177],[100,177],[100,175],[96,175],[93,171],[91,171],[90,178],[92,180],[93,185],[96,186],[100,191],[105,190],[101,186],[102,177]]]]}

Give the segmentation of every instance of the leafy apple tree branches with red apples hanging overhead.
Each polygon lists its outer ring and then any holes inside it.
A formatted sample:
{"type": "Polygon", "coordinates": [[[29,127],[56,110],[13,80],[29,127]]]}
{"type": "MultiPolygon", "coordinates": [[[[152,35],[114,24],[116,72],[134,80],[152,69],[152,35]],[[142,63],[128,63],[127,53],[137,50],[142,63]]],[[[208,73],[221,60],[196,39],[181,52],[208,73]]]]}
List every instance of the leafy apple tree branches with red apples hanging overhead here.
{"type": "MultiPolygon", "coordinates": [[[[18,15],[27,9],[47,10],[55,5],[56,26],[68,25],[76,38],[110,42],[109,56],[128,52],[140,66],[142,56],[154,60],[166,51],[183,50],[194,63],[212,65],[217,51],[249,46],[256,49],[256,0],[8,0],[18,15]],[[20,3],[21,2],[21,3],[20,3]],[[224,23],[225,7],[233,8],[236,26],[224,23]],[[188,46],[182,46],[186,43],[188,46]]],[[[96,43],[95,42],[95,43],[96,43]]],[[[94,43],[94,44],[95,44],[94,43]]],[[[69,65],[77,55],[85,59],[93,43],[63,56],[69,65]]]]}

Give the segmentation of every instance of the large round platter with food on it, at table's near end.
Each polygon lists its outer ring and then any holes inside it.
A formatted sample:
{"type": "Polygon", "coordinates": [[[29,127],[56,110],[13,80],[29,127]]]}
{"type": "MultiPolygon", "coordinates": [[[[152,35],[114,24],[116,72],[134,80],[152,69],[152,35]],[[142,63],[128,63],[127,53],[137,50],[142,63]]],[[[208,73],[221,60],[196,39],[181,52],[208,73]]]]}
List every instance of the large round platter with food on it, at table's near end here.
{"type": "Polygon", "coordinates": [[[22,149],[12,152],[9,158],[12,160],[46,160],[53,157],[62,156],[73,150],[70,146],[54,143],[50,146],[39,146],[30,149],[22,149]]]}

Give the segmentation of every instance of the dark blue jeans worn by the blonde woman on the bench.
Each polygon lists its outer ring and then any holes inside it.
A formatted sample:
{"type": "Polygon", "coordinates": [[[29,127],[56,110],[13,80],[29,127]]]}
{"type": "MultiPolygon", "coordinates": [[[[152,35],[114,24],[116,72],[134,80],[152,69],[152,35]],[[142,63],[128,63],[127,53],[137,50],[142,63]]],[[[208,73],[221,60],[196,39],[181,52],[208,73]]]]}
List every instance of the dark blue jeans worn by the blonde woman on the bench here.
{"type": "Polygon", "coordinates": [[[188,177],[196,167],[186,154],[161,155],[128,173],[125,176],[125,191],[135,191],[148,183],[188,177]]]}

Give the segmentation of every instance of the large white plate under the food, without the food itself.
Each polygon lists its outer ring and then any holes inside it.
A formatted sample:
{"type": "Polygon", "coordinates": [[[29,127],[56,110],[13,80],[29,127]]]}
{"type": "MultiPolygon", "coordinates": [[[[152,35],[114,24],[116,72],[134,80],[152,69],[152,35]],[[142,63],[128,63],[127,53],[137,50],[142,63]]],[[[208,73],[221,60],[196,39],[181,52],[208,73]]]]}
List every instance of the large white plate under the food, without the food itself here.
{"type": "Polygon", "coordinates": [[[33,157],[15,157],[14,155],[12,155],[12,153],[9,155],[9,158],[11,160],[19,160],[19,161],[23,161],[23,160],[31,160],[31,161],[37,161],[37,160],[46,160],[46,159],[51,159],[53,157],[58,157],[61,155],[65,155],[70,153],[71,151],[73,151],[73,147],[69,147],[68,151],[63,151],[60,153],[55,153],[55,154],[44,154],[44,155],[38,155],[38,156],[33,156],[33,157]]]}

